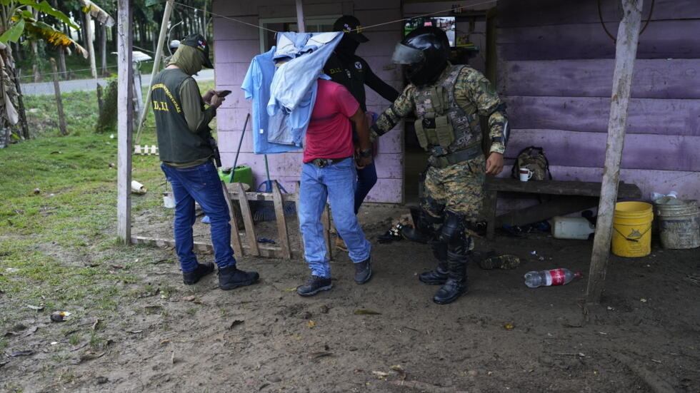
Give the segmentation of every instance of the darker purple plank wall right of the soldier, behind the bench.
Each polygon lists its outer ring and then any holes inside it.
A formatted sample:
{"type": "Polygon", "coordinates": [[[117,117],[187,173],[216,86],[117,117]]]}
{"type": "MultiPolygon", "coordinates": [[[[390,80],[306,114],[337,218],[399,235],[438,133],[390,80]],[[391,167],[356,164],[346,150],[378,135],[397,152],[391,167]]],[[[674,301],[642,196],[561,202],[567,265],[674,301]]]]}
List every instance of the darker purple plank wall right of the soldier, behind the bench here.
{"type": "MultiPolygon", "coordinates": [[[[621,1],[601,4],[615,36],[621,1]]],[[[639,39],[621,180],[647,200],[670,190],[700,199],[700,36],[691,31],[700,1],[656,0],[639,39]]],[[[555,179],[600,181],[615,45],[596,1],[500,0],[497,33],[496,84],[514,127],[506,163],[543,146],[555,179]]]]}

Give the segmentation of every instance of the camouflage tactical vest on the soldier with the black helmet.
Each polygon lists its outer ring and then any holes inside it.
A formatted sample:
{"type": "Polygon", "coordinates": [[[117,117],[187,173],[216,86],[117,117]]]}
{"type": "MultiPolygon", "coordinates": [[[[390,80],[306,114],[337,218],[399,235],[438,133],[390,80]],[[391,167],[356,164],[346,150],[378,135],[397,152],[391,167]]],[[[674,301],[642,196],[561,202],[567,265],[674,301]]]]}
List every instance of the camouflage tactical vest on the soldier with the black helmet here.
{"type": "MultiPolygon", "coordinates": [[[[457,104],[454,96],[457,76],[464,67],[452,66],[447,76],[433,86],[416,86],[416,136],[421,148],[431,153],[432,161],[481,143],[476,108],[467,113],[457,104]]],[[[461,160],[464,159],[469,158],[461,160]]]]}

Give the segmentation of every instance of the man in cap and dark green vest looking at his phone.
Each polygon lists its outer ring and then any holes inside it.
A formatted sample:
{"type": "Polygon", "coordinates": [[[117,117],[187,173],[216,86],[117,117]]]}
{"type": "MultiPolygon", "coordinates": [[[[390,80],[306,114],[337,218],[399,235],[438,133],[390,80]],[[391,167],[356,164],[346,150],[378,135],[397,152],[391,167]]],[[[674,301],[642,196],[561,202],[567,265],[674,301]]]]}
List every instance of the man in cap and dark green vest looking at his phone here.
{"type": "Polygon", "coordinates": [[[194,284],[214,271],[213,263],[199,263],[194,254],[192,225],[196,201],[211,220],[211,243],[219,267],[219,286],[222,290],[231,290],[251,285],[259,275],[236,269],[229,208],[219,173],[212,162],[215,144],[211,143],[209,128],[224,98],[214,90],[200,96],[192,75],[202,66],[214,68],[209,60],[209,45],[200,34],[186,36],[168,66],[154,78],[151,105],[156,118],[161,169],[175,197],[175,249],[183,282],[194,284]],[[206,109],[205,104],[209,106],[206,109]]]}

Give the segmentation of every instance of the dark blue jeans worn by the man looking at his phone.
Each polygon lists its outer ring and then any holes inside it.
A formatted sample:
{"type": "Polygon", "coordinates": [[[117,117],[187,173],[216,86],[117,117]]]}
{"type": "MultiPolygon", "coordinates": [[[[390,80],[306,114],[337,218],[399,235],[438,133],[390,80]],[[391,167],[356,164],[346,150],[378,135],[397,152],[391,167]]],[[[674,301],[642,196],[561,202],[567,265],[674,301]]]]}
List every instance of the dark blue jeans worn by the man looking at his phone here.
{"type": "Polygon", "coordinates": [[[235,266],[236,259],[231,248],[229,206],[226,205],[221,179],[214,163],[208,162],[192,168],[172,168],[161,164],[161,169],[173,187],[175,250],[180,260],[180,269],[183,272],[191,272],[197,267],[192,238],[192,225],[196,218],[195,201],[211,220],[214,262],[219,269],[235,266]]]}

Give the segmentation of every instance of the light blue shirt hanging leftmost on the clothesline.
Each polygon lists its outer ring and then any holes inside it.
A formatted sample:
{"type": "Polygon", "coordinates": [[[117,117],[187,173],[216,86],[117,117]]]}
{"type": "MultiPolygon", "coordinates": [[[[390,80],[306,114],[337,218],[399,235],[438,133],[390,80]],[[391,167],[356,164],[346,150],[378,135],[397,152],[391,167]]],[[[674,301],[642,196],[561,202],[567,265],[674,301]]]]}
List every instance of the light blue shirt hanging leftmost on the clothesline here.
{"type": "MultiPolygon", "coordinates": [[[[291,135],[288,113],[279,111],[269,116],[266,111],[266,105],[270,100],[270,85],[275,73],[273,61],[275,49],[273,46],[270,51],[253,58],[241,84],[245,97],[253,100],[253,153],[255,154],[284,153],[299,150],[301,146],[301,144],[294,146],[294,143],[278,144],[268,141],[270,134],[291,135]]],[[[288,139],[292,140],[291,137],[288,139]]]]}

